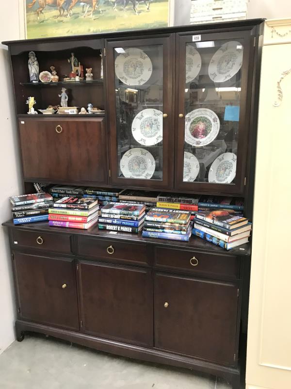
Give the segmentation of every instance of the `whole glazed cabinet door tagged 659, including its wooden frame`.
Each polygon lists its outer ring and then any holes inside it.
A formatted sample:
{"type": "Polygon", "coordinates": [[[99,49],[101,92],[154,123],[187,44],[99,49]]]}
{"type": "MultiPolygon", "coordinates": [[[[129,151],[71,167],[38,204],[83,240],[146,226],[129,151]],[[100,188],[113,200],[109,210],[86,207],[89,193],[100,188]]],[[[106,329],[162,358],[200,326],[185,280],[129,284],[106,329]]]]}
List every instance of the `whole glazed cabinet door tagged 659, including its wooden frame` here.
{"type": "Polygon", "coordinates": [[[177,189],[243,192],[250,41],[250,32],[177,36],[177,189]]]}

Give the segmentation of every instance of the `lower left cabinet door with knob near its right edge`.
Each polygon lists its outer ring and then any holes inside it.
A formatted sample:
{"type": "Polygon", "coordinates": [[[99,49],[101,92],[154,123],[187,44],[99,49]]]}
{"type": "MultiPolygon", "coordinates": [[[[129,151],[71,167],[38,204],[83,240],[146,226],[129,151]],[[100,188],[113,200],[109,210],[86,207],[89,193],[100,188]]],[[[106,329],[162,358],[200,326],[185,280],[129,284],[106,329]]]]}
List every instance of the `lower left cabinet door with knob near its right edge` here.
{"type": "Polygon", "coordinates": [[[75,262],[14,252],[20,317],[79,330],[75,262]]]}

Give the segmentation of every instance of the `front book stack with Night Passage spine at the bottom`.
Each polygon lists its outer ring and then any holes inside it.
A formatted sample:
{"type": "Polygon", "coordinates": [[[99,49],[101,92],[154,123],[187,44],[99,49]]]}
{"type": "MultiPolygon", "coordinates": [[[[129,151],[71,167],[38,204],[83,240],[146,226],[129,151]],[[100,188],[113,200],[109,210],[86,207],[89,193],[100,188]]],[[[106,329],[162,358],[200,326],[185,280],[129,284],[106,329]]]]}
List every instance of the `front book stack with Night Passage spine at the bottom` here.
{"type": "Polygon", "coordinates": [[[131,203],[108,203],[101,210],[98,228],[116,232],[139,233],[144,225],[146,206],[131,203]]]}

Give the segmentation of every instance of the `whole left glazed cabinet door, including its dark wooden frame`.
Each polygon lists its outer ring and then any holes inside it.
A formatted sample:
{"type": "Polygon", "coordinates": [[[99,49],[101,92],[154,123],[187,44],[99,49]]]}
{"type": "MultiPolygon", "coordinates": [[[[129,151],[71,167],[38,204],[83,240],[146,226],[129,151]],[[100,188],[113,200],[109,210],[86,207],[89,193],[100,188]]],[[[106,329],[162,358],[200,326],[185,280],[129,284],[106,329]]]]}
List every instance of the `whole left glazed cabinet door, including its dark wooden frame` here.
{"type": "Polygon", "coordinates": [[[107,42],[112,183],[145,188],[173,184],[173,39],[107,42]]]}

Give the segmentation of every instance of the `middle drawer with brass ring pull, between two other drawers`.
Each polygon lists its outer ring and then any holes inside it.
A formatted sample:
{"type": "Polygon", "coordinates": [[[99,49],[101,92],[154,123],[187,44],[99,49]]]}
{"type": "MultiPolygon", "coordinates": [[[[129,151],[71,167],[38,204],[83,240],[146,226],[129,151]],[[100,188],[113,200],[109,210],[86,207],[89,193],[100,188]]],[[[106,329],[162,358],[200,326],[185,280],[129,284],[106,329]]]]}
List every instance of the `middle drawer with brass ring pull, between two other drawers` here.
{"type": "Polygon", "coordinates": [[[78,254],[108,261],[123,261],[130,264],[147,265],[145,244],[125,243],[85,236],[78,237],[78,254]]]}

